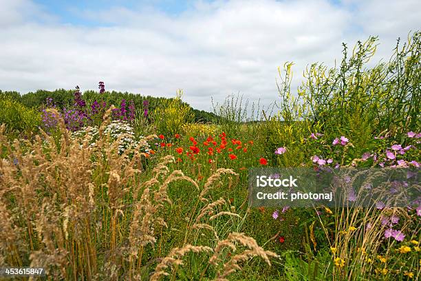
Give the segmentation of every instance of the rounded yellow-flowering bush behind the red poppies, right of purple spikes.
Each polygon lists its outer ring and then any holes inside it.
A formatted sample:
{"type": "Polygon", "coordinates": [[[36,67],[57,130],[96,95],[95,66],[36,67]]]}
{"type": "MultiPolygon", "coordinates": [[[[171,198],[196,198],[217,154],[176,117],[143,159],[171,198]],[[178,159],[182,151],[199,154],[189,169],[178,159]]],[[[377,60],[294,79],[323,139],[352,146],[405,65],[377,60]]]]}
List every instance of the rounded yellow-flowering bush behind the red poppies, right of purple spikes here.
{"type": "Polygon", "coordinates": [[[166,100],[153,110],[151,118],[159,134],[173,136],[182,131],[183,124],[193,121],[191,107],[182,103],[182,95],[182,90],[177,90],[175,99],[166,100]]]}

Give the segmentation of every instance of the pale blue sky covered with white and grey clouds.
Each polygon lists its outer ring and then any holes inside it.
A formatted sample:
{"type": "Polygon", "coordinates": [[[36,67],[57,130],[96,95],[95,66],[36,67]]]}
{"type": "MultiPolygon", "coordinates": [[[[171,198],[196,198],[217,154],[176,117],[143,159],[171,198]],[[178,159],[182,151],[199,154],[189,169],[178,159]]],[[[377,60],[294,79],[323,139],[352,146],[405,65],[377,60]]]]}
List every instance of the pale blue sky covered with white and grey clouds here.
{"type": "Polygon", "coordinates": [[[279,99],[277,67],[341,59],[341,43],[378,35],[376,60],[421,28],[419,0],[0,0],[0,89],[185,92],[210,110],[241,93],[279,99]]]}

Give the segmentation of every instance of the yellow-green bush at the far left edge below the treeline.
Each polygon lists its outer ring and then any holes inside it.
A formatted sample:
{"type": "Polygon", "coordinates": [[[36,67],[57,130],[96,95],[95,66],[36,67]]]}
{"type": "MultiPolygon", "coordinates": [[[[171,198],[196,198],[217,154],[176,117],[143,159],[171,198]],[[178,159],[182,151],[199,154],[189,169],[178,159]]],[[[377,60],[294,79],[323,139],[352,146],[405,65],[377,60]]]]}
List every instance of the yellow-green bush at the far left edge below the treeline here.
{"type": "Polygon", "coordinates": [[[38,131],[41,125],[41,114],[12,98],[3,96],[0,99],[0,124],[6,124],[8,132],[29,136],[38,131]]]}

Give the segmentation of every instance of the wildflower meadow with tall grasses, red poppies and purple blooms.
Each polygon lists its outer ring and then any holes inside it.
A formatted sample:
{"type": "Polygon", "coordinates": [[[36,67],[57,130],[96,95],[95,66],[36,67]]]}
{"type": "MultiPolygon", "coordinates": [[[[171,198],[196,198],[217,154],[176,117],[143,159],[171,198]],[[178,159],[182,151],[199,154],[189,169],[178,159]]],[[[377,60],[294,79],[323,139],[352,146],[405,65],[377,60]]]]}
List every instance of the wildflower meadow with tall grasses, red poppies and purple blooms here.
{"type": "Polygon", "coordinates": [[[270,110],[229,96],[199,112],[181,90],[103,82],[0,91],[0,267],[43,267],[41,280],[418,280],[419,194],[406,207],[251,207],[248,170],[419,172],[420,35],[371,67],[376,37],[344,45],[296,91],[285,63],[270,110]]]}

